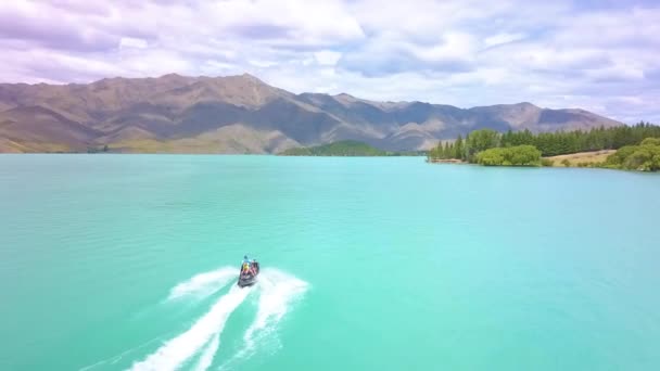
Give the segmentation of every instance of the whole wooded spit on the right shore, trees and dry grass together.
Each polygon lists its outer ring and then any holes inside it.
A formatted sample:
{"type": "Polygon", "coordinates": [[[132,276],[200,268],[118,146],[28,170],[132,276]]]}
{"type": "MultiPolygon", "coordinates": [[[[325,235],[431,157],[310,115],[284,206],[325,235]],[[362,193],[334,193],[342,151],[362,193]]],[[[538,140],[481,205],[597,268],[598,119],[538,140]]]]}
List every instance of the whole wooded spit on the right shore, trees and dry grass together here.
{"type": "Polygon", "coordinates": [[[660,126],[594,128],[588,131],[532,133],[491,129],[440,142],[427,153],[431,163],[485,166],[579,166],[640,171],[660,170],[660,126]]]}

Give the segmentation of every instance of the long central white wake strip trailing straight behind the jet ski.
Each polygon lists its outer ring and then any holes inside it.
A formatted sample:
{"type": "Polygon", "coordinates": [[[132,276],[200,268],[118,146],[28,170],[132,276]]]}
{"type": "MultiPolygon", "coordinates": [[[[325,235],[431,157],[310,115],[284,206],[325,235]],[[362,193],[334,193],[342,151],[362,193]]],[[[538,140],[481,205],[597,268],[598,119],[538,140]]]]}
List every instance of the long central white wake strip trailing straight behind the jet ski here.
{"type": "MultiPolygon", "coordinates": [[[[176,370],[194,356],[208,341],[223,332],[229,315],[245,299],[250,289],[232,286],[188,331],[167,341],[132,370],[176,370]]],[[[213,342],[212,342],[213,343],[213,342]]],[[[211,344],[213,345],[213,344],[211,344]]],[[[219,343],[218,343],[219,345],[219,343]]],[[[217,348],[217,347],[216,347],[217,348]]],[[[212,359],[213,360],[213,359],[212,359]]]]}

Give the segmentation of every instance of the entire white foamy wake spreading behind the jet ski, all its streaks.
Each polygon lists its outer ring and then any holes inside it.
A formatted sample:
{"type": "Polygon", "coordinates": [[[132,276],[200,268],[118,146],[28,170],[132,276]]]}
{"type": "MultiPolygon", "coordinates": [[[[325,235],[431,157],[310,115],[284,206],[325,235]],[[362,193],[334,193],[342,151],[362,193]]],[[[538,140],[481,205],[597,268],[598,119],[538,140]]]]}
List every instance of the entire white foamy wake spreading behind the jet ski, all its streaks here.
{"type": "MultiPolygon", "coordinates": [[[[198,295],[210,295],[236,279],[236,269],[224,267],[211,272],[196,274],[177,284],[169,293],[169,299],[198,295]]],[[[259,340],[271,336],[282,317],[290,310],[292,302],[308,287],[302,281],[281,270],[267,268],[259,274],[253,289],[232,286],[186,332],[165,342],[158,349],[132,370],[176,370],[200,354],[194,370],[206,370],[213,364],[220,346],[220,335],[229,316],[243,303],[251,291],[256,290],[258,307],[254,321],[243,335],[243,347],[234,354],[224,368],[231,362],[250,357],[257,350],[259,340]]]]}

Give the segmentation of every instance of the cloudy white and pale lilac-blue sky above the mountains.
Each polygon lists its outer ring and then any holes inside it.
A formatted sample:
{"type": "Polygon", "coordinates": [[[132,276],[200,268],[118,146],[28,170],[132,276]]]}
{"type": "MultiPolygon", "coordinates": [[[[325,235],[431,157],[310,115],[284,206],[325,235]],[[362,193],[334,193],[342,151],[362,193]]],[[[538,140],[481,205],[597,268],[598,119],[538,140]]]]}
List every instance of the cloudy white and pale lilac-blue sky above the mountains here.
{"type": "Polygon", "coordinates": [[[1,1],[0,82],[251,73],[293,91],[660,123],[660,1],[1,1]]]}

